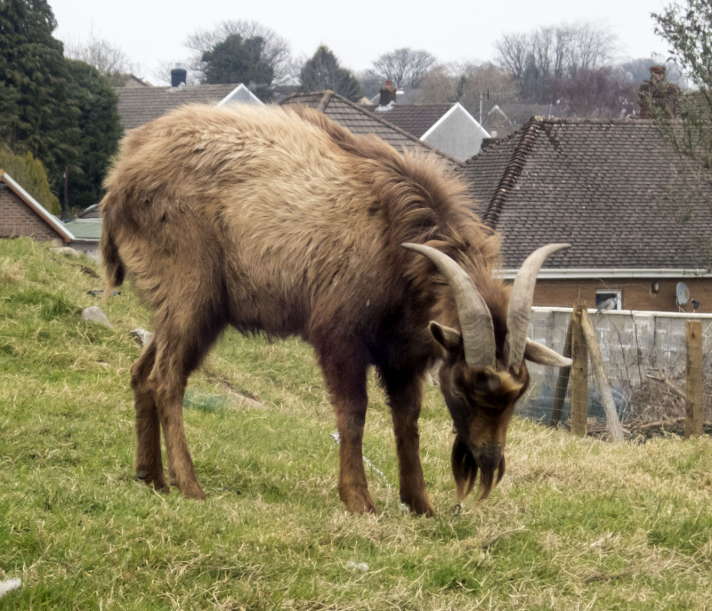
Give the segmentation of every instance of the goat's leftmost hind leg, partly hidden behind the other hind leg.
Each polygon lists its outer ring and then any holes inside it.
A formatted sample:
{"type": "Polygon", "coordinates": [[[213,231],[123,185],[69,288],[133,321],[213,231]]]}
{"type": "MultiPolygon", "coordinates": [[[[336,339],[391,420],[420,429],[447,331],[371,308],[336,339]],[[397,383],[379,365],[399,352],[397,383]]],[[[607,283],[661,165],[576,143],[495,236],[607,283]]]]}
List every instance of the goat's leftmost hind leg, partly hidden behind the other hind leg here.
{"type": "Polygon", "coordinates": [[[136,413],[136,477],[148,486],[168,492],[161,460],[160,423],[153,392],[147,383],[156,360],[156,344],[151,342],[131,367],[136,413]]]}

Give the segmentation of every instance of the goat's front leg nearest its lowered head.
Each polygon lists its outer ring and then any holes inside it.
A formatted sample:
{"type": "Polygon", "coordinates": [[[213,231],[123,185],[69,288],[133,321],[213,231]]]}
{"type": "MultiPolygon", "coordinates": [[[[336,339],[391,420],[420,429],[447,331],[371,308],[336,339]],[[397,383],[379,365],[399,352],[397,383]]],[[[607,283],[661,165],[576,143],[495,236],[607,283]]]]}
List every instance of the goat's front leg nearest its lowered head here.
{"type": "Polygon", "coordinates": [[[393,433],[398,454],[401,502],[412,511],[434,516],[435,510],[425,491],[425,477],[420,463],[420,434],[417,421],[423,399],[423,381],[419,375],[381,371],[391,406],[393,433]]]}

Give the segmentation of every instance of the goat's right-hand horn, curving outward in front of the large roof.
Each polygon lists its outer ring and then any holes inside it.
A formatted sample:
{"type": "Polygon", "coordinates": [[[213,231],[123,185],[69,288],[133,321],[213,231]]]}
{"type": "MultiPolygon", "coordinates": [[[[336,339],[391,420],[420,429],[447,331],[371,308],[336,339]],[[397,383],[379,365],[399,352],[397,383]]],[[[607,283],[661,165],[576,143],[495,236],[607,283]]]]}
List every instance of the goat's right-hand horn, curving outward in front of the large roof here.
{"type": "Polygon", "coordinates": [[[539,269],[549,255],[569,246],[570,244],[542,246],[527,257],[522,268],[517,272],[506,312],[505,363],[507,367],[520,366],[524,358],[531,304],[534,302],[534,285],[537,282],[539,269]]]}

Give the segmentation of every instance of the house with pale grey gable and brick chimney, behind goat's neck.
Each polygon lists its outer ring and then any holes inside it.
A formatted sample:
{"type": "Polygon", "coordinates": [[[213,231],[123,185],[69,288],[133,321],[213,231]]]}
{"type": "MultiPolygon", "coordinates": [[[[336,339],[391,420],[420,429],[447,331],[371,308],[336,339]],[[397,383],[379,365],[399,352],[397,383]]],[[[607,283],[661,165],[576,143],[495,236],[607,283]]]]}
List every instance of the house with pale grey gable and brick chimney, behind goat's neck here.
{"type": "Polygon", "coordinates": [[[459,102],[398,104],[398,92],[389,83],[381,88],[378,105],[367,108],[450,157],[465,161],[481,149],[483,139],[490,138],[459,102]]]}

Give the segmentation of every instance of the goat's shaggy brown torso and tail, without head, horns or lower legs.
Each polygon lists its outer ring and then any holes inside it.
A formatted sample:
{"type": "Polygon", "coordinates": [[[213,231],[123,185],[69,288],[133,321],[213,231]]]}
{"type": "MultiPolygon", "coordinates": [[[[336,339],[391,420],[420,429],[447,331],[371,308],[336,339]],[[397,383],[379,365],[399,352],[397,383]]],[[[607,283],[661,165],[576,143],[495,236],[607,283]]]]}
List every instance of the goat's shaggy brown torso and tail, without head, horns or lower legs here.
{"type": "Polygon", "coordinates": [[[465,228],[463,248],[480,239],[449,202],[453,184],[315,111],[185,107],[125,137],[102,253],[109,278],[127,269],[153,310],[192,300],[243,330],[309,337],[338,321],[377,333],[413,301],[401,242],[446,224],[465,228]]]}

